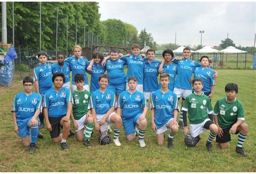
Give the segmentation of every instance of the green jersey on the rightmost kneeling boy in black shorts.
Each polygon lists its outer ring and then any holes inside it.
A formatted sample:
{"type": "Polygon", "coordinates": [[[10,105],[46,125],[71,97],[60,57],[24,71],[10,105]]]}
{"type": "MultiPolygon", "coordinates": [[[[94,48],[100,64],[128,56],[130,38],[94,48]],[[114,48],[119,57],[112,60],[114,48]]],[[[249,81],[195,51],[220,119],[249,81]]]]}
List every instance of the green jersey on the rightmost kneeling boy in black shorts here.
{"type": "Polygon", "coordinates": [[[237,98],[232,103],[227,102],[226,98],[217,100],[213,114],[218,116],[219,127],[222,129],[230,127],[237,120],[245,120],[244,107],[237,98]]]}

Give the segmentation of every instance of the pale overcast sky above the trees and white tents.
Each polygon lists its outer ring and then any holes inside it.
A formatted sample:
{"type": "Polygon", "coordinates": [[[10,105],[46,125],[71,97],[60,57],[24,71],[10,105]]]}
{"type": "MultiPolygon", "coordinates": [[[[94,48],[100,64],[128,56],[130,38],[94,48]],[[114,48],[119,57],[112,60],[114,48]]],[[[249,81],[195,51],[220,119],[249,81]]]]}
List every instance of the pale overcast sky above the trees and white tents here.
{"type": "Polygon", "coordinates": [[[253,46],[255,2],[99,2],[100,20],[120,19],[140,33],[146,28],[157,44],[219,45],[232,39],[235,45],[253,46]]]}

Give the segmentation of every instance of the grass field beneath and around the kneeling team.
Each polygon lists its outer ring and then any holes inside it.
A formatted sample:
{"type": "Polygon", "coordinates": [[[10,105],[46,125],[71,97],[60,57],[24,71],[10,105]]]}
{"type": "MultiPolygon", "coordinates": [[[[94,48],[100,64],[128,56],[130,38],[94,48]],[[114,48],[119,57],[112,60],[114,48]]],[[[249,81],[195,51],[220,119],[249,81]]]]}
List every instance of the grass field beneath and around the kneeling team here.
{"type": "MultiPolygon", "coordinates": [[[[146,147],[140,148],[138,140],[127,142],[124,130],[119,136],[121,147],[99,145],[97,134],[93,134],[93,147],[86,149],[75,137],[68,139],[69,151],[62,151],[59,143],[51,142],[49,131],[41,129],[44,140],[37,140],[39,149],[35,154],[28,154],[20,138],[14,132],[10,113],[12,100],[21,92],[22,81],[17,80],[13,87],[0,87],[0,171],[1,172],[255,172],[256,171],[256,71],[218,69],[219,76],[212,105],[225,96],[224,87],[228,82],[239,86],[238,99],[245,109],[245,122],[249,134],[244,143],[247,157],[236,154],[237,136],[227,149],[218,148],[215,140],[213,152],[205,147],[208,133],[201,135],[198,148],[186,148],[182,130],[174,136],[174,149],[167,149],[165,144],[159,147],[156,136],[151,130],[150,112],[147,114],[148,127],[145,135],[146,147]]],[[[111,136],[113,136],[111,134],[111,136]]]]}

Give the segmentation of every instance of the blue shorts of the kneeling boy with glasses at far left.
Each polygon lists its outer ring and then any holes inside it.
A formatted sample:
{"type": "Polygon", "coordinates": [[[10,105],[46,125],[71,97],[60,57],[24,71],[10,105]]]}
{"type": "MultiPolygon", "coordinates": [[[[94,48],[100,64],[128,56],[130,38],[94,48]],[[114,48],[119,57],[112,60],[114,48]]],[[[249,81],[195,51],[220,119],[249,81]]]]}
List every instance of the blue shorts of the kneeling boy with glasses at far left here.
{"type": "MultiPolygon", "coordinates": [[[[30,135],[30,126],[29,126],[29,122],[32,119],[32,117],[28,118],[28,119],[24,119],[24,120],[17,120],[17,125],[19,128],[19,137],[26,137],[28,135],[30,135]]],[[[40,123],[39,118],[37,117],[37,121],[38,123],[40,123]]],[[[38,124],[36,125],[38,126],[38,124]]]]}

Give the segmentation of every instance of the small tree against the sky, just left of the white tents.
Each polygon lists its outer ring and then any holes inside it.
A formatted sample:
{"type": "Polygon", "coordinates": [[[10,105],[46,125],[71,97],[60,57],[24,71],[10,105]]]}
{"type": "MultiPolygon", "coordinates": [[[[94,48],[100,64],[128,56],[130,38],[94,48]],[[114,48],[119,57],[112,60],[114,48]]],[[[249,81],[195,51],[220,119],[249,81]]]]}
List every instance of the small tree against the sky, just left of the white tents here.
{"type": "Polygon", "coordinates": [[[147,46],[153,48],[156,50],[157,43],[154,41],[154,38],[152,37],[151,33],[146,32],[146,28],[144,30],[140,31],[139,33],[139,45],[140,47],[144,47],[144,43],[146,43],[147,46]]]}

